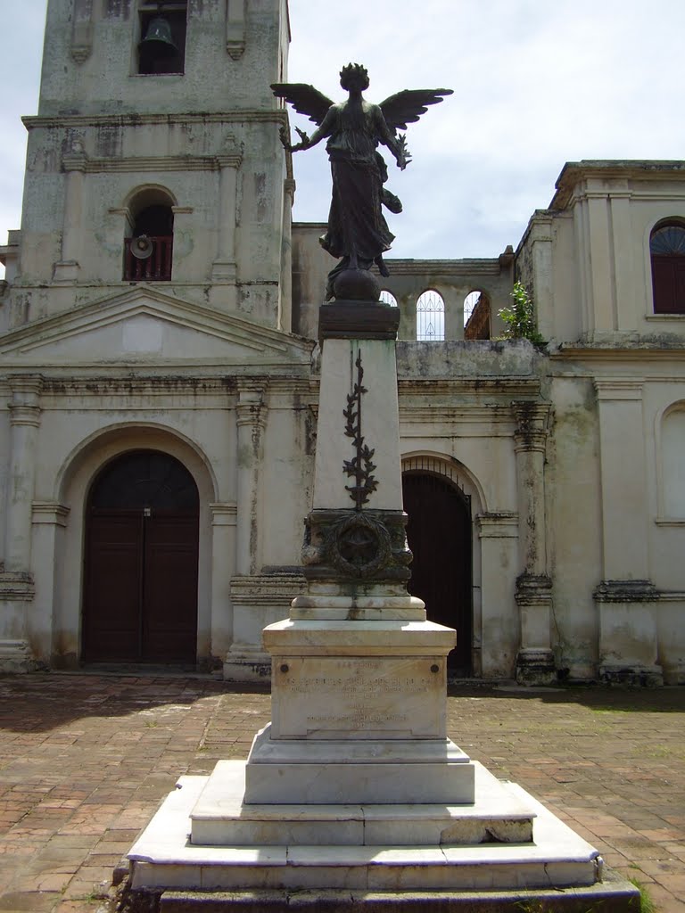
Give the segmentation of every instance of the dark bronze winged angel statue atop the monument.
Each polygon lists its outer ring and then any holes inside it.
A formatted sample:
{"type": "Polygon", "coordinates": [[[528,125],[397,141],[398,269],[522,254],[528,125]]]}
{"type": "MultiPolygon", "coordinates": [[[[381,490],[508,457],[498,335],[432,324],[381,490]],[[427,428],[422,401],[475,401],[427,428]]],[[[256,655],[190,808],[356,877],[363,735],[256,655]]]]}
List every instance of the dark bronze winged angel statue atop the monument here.
{"type": "Polygon", "coordinates": [[[287,150],[300,152],[323,139],[328,141],[332,201],[328,231],[320,240],[321,246],[340,262],[329,273],[326,300],[334,297],[335,280],[344,270],[369,270],[375,263],[382,276],[389,275],[383,255],[395,236],[388,229],[382,206],[399,213],[402,204],[383,186],[388,174],[385,160],[377,152],[378,144],[383,143],[393,153],[397,166],[404,171],[411,156],[406,135],[397,131],[418,121],[427,105],[452,94],[451,89],[405,89],[374,105],[362,95],[369,87],[369,77],[366,69],[356,63],[342,68],[340,84],[349,97],[338,103],[304,83],[279,82],[271,86],[275,95],[317,124],[311,136],[296,127],[300,142],[294,146],[283,128],[280,138],[287,150]]]}

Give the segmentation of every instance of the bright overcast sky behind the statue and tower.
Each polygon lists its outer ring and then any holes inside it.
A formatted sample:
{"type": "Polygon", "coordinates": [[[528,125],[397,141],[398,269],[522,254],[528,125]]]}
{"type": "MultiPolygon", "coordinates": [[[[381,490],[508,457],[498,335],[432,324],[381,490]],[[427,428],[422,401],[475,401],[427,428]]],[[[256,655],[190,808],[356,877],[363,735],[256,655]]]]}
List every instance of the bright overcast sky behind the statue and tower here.
{"type": "MultiPolygon", "coordinates": [[[[0,243],[19,227],[19,117],[37,109],[45,5],[22,0],[5,21],[0,243]]],[[[388,219],[391,257],[496,257],[516,247],[564,162],[685,159],[683,0],[290,0],[290,24],[290,81],[333,100],[351,60],[369,70],[370,100],[454,89],[410,125],[406,171],[389,157],[388,187],[405,205],[388,219]]],[[[295,169],[295,218],[325,221],[323,145],[300,152],[295,169]]]]}

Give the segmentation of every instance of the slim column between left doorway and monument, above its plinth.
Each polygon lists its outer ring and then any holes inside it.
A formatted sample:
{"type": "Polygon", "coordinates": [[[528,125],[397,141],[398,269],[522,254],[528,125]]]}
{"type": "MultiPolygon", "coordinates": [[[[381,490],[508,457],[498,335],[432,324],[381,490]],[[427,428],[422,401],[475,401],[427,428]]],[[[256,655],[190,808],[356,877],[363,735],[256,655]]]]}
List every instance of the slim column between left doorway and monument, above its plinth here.
{"type": "Polygon", "coordinates": [[[236,572],[242,575],[254,574],[259,568],[258,477],[267,424],[264,393],[263,383],[238,382],[236,572]]]}

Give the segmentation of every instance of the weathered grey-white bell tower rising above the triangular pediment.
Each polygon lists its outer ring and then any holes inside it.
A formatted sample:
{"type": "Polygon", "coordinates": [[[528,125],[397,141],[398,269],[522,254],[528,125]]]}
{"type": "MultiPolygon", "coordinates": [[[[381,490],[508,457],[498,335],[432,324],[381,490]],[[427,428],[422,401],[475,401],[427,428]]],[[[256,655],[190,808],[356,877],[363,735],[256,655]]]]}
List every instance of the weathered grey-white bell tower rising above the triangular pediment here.
{"type": "Polygon", "coordinates": [[[7,329],[132,283],[290,330],[287,0],[48,0],[7,329]]]}

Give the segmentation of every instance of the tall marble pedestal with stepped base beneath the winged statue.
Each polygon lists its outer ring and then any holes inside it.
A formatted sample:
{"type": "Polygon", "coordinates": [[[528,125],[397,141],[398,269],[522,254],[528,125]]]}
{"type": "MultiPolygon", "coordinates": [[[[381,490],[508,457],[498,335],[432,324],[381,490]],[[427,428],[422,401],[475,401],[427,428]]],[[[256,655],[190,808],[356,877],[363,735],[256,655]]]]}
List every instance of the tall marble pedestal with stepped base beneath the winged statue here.
{"type": "Polygon", "coordinates": [[[479,911],[502,890],[555,903],[573,886],[588,906],[607,896],[592,846],[448,739],[456,633],[406,593],[396,310],[321,309],[307,593],[264,629],[273,714],[248,761],[184,777],[132,848],[132,887],[165,889],[162,909],[220,906],[209,892],[237,889],[279,911],[313,891],[336,913],[436,909],[436,892],[451,909],[477,891],[479,911]]]}

